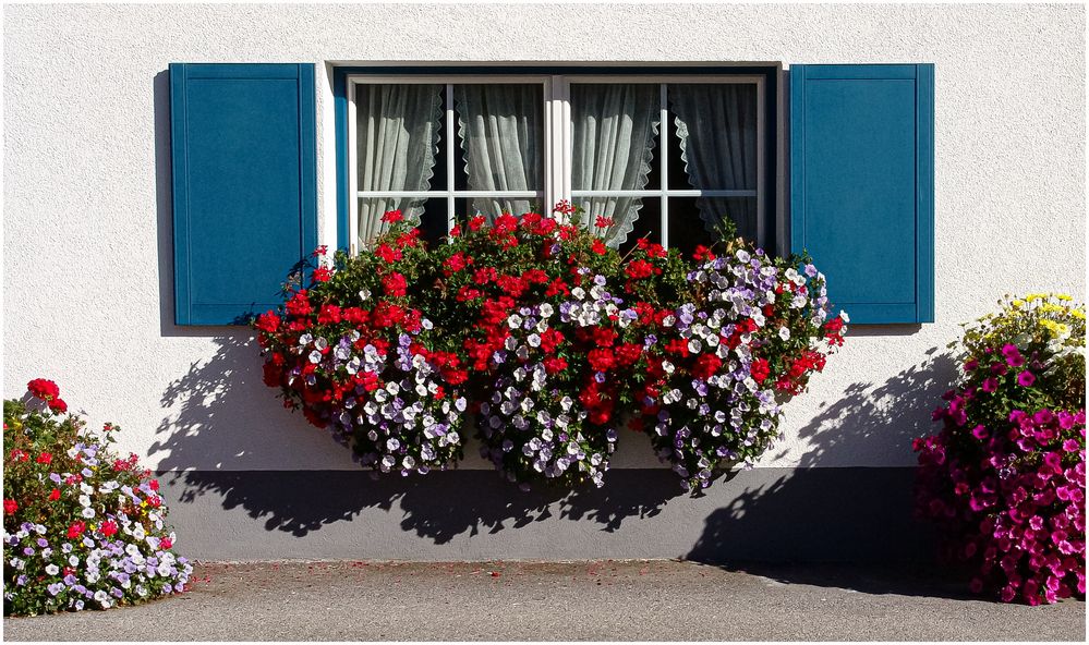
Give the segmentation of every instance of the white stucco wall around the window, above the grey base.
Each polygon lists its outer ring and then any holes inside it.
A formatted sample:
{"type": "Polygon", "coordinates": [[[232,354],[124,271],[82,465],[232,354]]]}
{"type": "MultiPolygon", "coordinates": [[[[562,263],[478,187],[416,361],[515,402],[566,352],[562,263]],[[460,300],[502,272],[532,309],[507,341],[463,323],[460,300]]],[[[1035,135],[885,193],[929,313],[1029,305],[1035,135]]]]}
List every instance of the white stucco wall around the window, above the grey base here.
{"type": "MultiPolygon", "coordinates": [[[[1085,10],[1065,5],[7,5],[3,393],[56,379],[149,465],[353,468],[283,411],[244,332],[172,325],[168,63],[936,64],[936,318],[860,328],[788,406],[765,466],[906,465],[947,363],[1002,294],[1085,292],[1085,10]],[[937,378],[928,375],[936,374],[937,378]]],[[[329,230],[329,226],[323,230],[329,230]]],[[[255,231],[254,234],[259,234],[255,231]]],[[[849,232],[847,233],[849,234],[849,232]]],[[[616,467],[656,463],[622,435],[616,467]]],[[[491,467],[481,465],[481,467],[491,467]]]]}

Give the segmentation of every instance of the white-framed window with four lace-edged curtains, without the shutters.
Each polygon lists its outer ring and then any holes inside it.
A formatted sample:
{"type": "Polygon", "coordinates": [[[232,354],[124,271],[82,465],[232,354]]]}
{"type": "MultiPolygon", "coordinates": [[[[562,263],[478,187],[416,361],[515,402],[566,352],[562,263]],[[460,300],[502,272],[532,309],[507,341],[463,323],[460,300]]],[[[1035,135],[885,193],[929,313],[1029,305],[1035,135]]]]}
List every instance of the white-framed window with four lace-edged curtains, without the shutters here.
{"type": "Polygon", "coordinates": [[[766,77],[348,74],[348,240],[400,209],[425,238],[559,199],[621,250],[691,252],[724,219],[774,241],[766,77]],[[597,226],[601,224],[601,226],[597,226]]]}

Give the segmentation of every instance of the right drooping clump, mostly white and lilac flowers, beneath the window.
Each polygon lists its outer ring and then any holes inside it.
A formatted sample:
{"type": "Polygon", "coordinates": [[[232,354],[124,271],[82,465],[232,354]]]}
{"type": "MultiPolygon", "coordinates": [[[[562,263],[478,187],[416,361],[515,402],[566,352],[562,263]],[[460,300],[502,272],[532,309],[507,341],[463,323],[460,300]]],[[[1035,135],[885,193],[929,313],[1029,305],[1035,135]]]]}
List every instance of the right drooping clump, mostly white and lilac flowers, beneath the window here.
{"type": "Polygon", "coordinates": [[[698,491],[777,436],[776,392],[797,394],[843,343],[846,314],[830,318],[824,276],[799,258],[743,244],[700,250],[686,302],[646,338],[643,427],[686,488],[698,491]]]}

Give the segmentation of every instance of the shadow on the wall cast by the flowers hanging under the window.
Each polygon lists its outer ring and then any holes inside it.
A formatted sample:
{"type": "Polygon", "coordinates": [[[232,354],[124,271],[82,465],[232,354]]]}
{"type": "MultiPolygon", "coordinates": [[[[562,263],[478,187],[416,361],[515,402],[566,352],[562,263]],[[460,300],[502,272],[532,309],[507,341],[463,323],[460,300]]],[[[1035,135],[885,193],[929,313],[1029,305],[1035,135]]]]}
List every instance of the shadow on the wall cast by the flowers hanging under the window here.
{"type": "Polygon", "coordinates": [[[577,491],[541,487],[530,492],[499,482],[491,470],[457,473],[456,486],[444,485],[453,473],[371,480],[359,471],[261,471],[269,441],[298,441],[300,449],[320,450],[326,448],[322,442],[334,439],[288,411],[276,415],[282,417],[276,428],[255,427],[253,419],[267,419],[277,401],[262,381],[256,342],[242,330],[213,340],[218,348],[211,360],[194,364],[162,394],[164,409],[176,413],[160,424],[150,448],[153,457],[166,453],[159,470],[168,471],[164,476],[172,485],[183,484],[183,503],[218,495],[223,508],[242,508],[264,519],[268,531],[304,536],[350,521],[364,509],[390,511],[399,502],[403,531],[444,544],[461,534],[496,533],[555,514],[589,520],[612,532],[627,518],[657,514],[681,494],[676,476],[664,468],[655,473],[660,476],[646,477],[644,472],[640,486],[577,491]],[[209,462],[217,470],[186,470],[209,462]]]}

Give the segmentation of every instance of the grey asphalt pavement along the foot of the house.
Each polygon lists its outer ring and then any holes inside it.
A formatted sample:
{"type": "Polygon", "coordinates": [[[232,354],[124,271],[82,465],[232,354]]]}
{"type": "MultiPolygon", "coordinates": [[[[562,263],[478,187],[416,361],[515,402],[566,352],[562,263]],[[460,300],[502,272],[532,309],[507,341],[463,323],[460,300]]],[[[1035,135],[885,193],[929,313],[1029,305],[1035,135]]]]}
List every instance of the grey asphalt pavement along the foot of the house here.
{"type": "Polygon", "coordinates": [[[198,563],[138,607],[5,618],[4,641],[1070,641],[1080,600],[1003,605],[918,570],[592,562],[198,563]]]}

